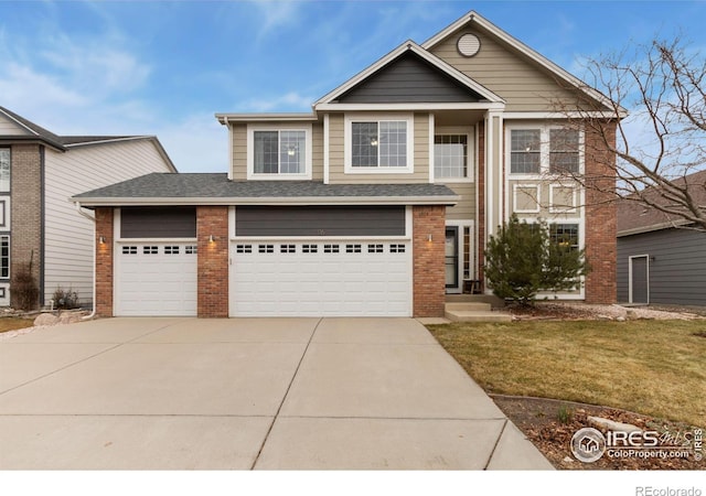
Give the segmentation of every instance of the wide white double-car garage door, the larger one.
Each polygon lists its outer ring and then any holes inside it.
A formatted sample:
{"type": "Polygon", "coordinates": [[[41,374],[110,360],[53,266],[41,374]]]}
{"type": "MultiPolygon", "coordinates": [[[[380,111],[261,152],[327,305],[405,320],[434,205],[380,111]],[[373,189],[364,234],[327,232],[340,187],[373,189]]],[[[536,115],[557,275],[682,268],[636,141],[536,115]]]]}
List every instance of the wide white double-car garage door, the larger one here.
{"type": "Polygon", "coordinates": [[[410,316],[408,241],[231,246],[232,316],[410,316]]]}

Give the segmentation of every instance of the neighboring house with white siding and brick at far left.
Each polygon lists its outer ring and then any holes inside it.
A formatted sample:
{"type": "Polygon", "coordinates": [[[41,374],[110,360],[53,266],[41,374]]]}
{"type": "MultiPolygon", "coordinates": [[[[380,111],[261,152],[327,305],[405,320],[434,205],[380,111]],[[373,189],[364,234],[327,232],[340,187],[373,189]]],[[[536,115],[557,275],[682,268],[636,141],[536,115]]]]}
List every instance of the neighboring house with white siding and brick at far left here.
{"type": "Polygon", "coordinates": [[[93,222],[71,196],[149,172],[176,172],[154,137],[56,136],[0,107],[0,305],[32,261],[39,304],[57,288],[93,303],[93,222]]]}

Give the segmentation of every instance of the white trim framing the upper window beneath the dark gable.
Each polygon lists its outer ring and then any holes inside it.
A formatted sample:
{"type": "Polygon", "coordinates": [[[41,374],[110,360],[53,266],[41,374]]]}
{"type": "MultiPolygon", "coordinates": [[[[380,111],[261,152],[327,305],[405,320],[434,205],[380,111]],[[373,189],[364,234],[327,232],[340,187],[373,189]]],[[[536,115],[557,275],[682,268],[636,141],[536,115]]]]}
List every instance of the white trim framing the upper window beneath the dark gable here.
{"type": "Polygon", "coordinates": [[[343,170],[346,174],[414,174],[415,172],[415,116],[414,114],[352,114],[344,118],[343,170]],[[404,120],[407,122],[407,166],[406,168],[354,168],[353,122],[382,122],[404,120]]]}

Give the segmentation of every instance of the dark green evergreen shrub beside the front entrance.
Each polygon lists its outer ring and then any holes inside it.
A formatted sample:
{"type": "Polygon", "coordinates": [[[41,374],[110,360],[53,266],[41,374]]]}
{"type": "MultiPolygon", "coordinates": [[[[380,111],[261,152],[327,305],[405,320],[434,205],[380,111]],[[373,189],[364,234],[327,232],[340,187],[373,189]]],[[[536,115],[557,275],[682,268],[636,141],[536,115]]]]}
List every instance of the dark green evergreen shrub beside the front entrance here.
{"type": "Polygon", "coordinates": [[[589,270],[585,250],[552,241],[544,220],[521,223],[514,214],[490,237],[485,250],[485,277],[493,293],[527,305],[539,291],[576,288],[589,270]]]}

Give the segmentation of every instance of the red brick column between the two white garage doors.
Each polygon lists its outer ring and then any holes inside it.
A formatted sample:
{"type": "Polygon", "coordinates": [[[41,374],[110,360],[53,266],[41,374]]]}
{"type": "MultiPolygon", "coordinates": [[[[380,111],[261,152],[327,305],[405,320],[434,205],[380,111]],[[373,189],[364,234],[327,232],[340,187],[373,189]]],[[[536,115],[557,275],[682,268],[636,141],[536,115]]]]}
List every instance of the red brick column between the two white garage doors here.
{"type": "Polygon", "coordinates": [[[196,207],[200,317],[228,316],[228,207],[196,207]],[[213,241],[210,240],[213,236],[213,241]]]}

